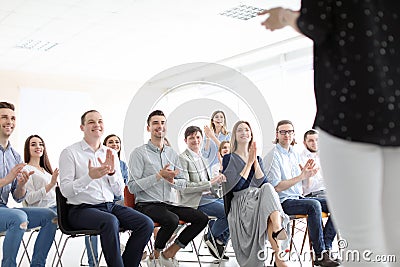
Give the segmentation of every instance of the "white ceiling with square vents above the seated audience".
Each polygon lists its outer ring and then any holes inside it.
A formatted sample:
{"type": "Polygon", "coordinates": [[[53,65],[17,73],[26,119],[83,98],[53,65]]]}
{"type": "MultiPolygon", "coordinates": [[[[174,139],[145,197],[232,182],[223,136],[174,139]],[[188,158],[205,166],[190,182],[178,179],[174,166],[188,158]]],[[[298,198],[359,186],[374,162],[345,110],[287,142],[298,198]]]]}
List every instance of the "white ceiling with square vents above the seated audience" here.
{"type": "Polygon", "coordinates": [[[0,0],[0,70],[143,80],[175,65],[226,58],[297,36],[261,17],[219,15],[240,4],[298,8],[300,0],[0,0]],[[55,42],[48,51],[26,40],[55,42]]]}

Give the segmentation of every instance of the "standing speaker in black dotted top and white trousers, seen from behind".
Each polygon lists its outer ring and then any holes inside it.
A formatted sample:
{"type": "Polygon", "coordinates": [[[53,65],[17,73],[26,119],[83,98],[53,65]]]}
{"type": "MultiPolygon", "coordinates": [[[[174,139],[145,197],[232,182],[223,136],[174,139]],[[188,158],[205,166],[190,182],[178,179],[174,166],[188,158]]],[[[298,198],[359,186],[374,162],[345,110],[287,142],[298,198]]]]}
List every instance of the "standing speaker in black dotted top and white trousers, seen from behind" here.
{"type": "Polygon", "coordinates": [[[303,0],[300,11],[278,7],[261,14],[269,15],[262,23],[267,29],[291,26],[314,41],[313,128],[320,133],[329,205],[346,249],[399,259],[393,196],[400,187],[400,2],[303,0]]]}

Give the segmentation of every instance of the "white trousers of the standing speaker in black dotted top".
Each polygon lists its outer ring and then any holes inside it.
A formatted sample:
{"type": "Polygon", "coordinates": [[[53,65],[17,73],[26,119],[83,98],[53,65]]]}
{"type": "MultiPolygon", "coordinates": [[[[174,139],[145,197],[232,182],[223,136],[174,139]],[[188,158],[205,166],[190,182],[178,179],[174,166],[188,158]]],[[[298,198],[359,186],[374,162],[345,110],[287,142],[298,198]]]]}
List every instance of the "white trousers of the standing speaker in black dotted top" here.
{"type": "Polygon", "coordinates": [[[343,266],[400,266],[400,147],[324,131],[319,147],[329,208],[347,246],[343,266]]]}

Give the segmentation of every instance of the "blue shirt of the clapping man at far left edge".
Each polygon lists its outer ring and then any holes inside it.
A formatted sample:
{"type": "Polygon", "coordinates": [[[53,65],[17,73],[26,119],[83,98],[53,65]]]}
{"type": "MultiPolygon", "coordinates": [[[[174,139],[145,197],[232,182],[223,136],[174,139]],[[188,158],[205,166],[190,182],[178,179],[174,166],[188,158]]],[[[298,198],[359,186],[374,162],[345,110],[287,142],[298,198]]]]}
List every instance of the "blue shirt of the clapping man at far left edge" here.
{"type": "MultiPolygon", "coordinates": [[[[10,142],[8,142],[7,148],[4,149],[0,145],[0,179],[3,179],[7,174],[14,168],[15,165],[22,163],[21,156],[11,147],[10,142]]],[[[21,202],[24,198],[15,198],[14,192],[17,188],[17,179],[14,179],[12,183],[9,183],[0,188],[0,207],[7,206],[8,196],[11,194],[16,202],[21,202]]]]}

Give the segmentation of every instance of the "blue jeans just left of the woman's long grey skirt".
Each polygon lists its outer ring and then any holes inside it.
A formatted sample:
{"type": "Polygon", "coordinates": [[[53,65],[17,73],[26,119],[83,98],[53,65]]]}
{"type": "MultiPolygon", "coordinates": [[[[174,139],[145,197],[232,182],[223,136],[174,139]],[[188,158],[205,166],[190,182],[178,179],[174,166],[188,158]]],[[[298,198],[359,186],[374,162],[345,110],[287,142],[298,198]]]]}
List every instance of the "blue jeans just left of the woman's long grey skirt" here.
{"type": "Polygon", "coordinates": [[[210,221],[211,233],[208,233],[208,238],[211,234],[215,239],[221,241],[224,245],[228,243],[229,239],[229,226],[226,219],[224,201],[212,195],[204,195],[201,197],[198,210],[201,210],[208,216],[217,217],[216,221],[210,221]]]}

